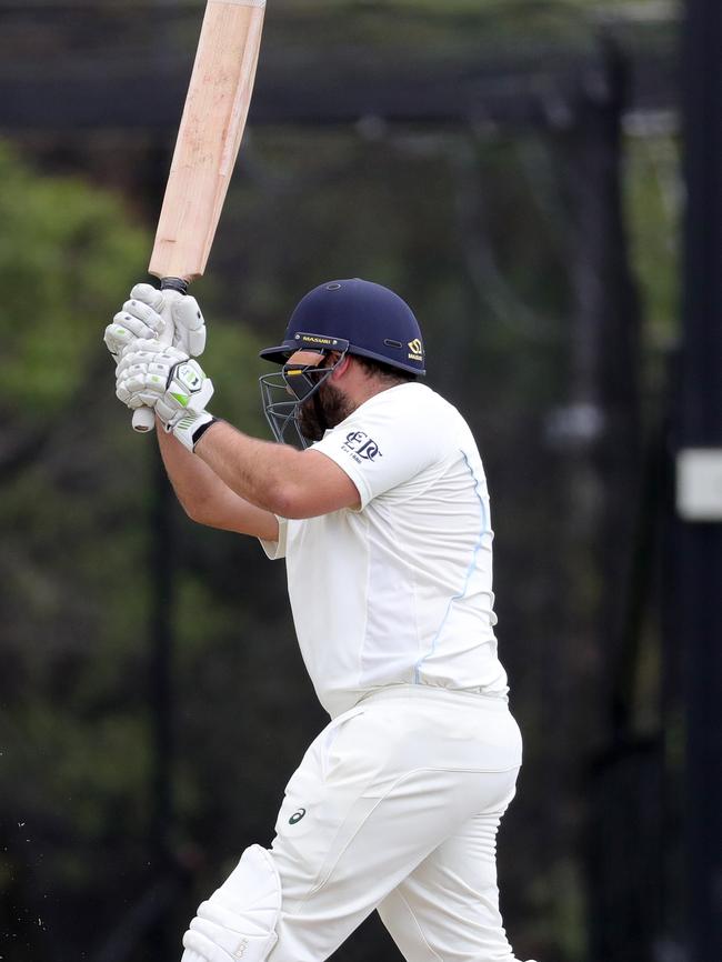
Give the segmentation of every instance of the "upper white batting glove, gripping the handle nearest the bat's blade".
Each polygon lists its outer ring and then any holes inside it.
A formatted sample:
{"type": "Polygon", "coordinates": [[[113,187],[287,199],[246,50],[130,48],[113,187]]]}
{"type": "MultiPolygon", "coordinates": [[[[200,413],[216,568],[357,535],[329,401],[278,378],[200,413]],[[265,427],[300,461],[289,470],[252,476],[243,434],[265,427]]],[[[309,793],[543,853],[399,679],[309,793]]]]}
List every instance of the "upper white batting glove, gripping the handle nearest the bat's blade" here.
{"type": "Polygon", "coordinates": [[[130,300],[106,328],[103,340],[118,362],[133,341],[156,338],[198,358],[205,348],[203,314],[195,298],[160,291],[152,284],[136,284],[130,300]]]}

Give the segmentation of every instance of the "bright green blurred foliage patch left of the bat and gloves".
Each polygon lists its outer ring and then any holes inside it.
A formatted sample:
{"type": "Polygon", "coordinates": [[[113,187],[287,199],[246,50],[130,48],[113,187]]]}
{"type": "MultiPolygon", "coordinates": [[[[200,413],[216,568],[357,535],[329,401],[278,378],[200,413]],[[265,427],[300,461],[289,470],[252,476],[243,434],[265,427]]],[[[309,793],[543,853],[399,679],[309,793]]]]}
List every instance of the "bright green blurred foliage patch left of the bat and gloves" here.
{"type": "Polygon", "coordinates": [[[79,180],[39,179],[7,147],[0,182],[0,404],[42,419],[79,391],[117,291],[142,271],[147,239],[116,198],[79,180]]]}

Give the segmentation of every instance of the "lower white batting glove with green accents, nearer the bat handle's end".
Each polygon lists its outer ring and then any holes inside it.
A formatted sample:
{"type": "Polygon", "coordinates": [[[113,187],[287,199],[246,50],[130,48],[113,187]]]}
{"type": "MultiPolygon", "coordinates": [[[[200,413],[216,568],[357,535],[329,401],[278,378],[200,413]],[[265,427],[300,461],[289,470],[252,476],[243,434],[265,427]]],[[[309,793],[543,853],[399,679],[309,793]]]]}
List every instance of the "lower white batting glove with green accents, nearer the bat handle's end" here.
{"type": "Polygon", "coordinates": [[[131,342],[116,372],[116,394],[128,408],[153,408],[169,433],[192,451],[215,419],[205,410],[213,382],[184,351],[158,341],[131,342]]]}

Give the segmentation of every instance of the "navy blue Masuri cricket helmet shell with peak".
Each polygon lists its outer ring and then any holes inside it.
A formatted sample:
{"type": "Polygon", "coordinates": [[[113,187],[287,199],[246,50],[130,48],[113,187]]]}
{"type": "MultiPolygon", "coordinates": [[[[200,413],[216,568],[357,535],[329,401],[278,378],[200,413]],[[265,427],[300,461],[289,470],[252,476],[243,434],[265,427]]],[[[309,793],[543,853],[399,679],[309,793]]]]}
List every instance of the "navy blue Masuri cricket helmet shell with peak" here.
{"type": "Polygon", "coordinates": [[[291,314],[283,343],[260,355],[284,364],[295,351],[343,349],[427,373],[421,329],[409,304],[389,288],[359,278],[328,281],[310,291],[291,314]]]}

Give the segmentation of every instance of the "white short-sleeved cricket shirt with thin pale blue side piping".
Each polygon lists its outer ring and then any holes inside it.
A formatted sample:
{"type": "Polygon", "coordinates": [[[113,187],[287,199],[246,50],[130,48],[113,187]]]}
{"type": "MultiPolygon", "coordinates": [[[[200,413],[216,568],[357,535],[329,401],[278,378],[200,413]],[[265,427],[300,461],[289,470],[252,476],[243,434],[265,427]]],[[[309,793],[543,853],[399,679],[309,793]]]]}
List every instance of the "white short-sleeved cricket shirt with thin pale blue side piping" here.
{"type": "Polygon", "coordinates": [[[423,384],[390,388],[313,445],[361,508],[279,519],[301,653],[334,718],[379,688],[427,684],[505,698],[493,625],[491,517],[477,444],[423,384]]]}

